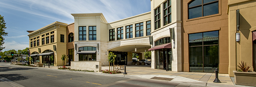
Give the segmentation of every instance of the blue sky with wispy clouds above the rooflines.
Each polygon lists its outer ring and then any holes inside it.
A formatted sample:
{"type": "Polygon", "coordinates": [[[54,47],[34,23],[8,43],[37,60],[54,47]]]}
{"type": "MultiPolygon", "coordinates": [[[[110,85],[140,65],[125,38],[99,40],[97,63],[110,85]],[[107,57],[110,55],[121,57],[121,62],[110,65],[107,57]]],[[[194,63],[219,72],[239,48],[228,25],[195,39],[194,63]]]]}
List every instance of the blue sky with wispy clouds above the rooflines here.
{"type": "Polygon", "coordinates": [[[102,13],[110,23],[150,12],[150,5],[150,0],[0,0],[8,32],[2,51],[29,47],[28,30],[55,21],[74,23],[72,13],[102,13]]]}

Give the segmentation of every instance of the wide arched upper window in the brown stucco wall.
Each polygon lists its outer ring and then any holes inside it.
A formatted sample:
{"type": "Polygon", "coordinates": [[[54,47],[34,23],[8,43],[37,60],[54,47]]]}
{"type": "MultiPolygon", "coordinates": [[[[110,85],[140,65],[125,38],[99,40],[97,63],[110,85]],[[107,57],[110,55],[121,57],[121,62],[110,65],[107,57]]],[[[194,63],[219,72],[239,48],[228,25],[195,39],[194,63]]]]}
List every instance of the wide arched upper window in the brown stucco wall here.
{"type": "Polygon", "coordinates": [[[218,14],[218,0],[193,0],[188,7],[189,19],[218,14]]]}

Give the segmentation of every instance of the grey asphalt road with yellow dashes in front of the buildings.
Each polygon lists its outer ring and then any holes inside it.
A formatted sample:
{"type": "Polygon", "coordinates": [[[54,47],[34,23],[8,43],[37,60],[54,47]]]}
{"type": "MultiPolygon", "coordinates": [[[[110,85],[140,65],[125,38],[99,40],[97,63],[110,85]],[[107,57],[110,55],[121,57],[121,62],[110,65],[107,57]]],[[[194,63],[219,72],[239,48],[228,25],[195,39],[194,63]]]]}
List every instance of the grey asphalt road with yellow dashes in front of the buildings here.
{"type": "Polygon", "coordinates": [[[0,76],[25,87],[175,87],[178,85],[166,81],[38,69],[7,63],[0,63],[0,76]]]}

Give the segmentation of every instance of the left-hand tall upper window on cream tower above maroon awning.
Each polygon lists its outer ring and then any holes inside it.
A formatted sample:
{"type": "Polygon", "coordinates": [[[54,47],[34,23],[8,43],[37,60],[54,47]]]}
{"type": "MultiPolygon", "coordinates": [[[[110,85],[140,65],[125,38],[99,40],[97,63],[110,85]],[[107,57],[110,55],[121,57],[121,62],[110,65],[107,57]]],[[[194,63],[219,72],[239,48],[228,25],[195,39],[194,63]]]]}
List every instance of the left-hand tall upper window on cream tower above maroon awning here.
{"type": "Polygon", "coordinates": [[[158,29],[161,27],[161,22],[160,22],[160,6],[157,7],[157,9],[154,10],[154,20],[155,20],[155,29],[158,29]]]}

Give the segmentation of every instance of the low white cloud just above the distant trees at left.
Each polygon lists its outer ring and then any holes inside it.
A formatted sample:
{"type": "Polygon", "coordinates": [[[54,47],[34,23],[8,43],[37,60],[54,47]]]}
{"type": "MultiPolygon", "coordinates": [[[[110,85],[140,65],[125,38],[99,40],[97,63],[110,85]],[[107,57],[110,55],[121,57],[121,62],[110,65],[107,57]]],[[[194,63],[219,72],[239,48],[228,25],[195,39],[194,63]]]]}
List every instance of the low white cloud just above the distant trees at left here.
{"type": "Polygon", "coordinates": [[[18,49],[25,49],[26,47],[29,47],[29,44],[27,43],[18,43],[16,41],[5,41],[5,43],[3,44],[3,47],[6,47],[5,49],[3,49],[3,51],[7,51],[10,49],[15,49],[16,51],[18,49]]]}

